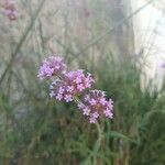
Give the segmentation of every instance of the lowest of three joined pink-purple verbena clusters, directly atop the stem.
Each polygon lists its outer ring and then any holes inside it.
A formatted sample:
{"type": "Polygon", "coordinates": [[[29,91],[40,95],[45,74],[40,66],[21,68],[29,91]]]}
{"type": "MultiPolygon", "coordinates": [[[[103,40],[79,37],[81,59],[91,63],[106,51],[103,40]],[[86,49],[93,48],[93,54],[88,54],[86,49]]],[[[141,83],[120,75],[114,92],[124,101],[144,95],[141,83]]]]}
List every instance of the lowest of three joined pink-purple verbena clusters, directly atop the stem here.
{"type": "Polygon", "coordinates": [[[113,101],[107,100],[105,91],[91,90],[78,103],[82,114],[88,117],[90,123],[96,123],[100,117],[113,118],[113,101]]]}

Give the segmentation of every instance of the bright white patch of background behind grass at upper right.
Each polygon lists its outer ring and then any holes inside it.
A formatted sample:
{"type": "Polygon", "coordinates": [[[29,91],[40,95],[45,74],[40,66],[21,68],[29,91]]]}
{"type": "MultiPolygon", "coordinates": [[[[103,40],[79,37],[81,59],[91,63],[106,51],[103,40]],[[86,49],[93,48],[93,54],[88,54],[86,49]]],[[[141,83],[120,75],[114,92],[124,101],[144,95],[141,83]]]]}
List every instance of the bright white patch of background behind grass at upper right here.
{"type": "MultiPolygon", "coordinates": [[[[145,3],[146,0],[132,0],[133,11],[145,3]]],[[[144,67],[146,76],[142,77],[142,80],[146,82],[148,79],[156,79],[158,86],[165,75],[165,68],[161,67],[165,63],[165,11],[161,7],[163,4],[155,0],[154,6],[148,4],[133,20],[136,53],[144,48],[146,58],[144,67]]]]}

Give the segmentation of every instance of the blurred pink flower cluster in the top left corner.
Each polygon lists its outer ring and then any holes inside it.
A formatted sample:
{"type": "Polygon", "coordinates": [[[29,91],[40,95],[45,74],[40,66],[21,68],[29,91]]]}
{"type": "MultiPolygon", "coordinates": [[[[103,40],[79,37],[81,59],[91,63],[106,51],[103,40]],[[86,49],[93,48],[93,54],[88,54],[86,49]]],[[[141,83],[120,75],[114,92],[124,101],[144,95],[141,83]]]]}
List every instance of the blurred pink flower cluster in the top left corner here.
{"type": "Polygon", "coordinates": [[[15,8],[15,0],[4,0],[4,13],[11,21],[14,21],[18,19],[18,10],[15,8]]]}

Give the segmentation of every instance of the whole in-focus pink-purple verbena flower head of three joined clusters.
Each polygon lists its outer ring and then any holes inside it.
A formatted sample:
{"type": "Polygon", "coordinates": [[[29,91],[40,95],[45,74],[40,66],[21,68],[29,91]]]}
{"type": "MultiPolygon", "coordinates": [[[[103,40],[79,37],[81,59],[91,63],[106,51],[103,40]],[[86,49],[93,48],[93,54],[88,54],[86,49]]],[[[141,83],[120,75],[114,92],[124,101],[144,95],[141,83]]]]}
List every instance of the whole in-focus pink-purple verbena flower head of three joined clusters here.
{"type": "Polygon", "coordinates": [[[50,87],[51,98],[65,102],[78,102],[78,109],[90,123],[96,123],[100,117],[112,119],[113,101],[106,99],[105,91],[90,90],[82,97],[82,100],[78,99],[86,89],[92,87],[95,80],[91,74],[85,74],[81,69],[66,70],[66,64],[62,57],[51,56],[43,62],[37,76],[41,79],[55,76],[50,87]]]}

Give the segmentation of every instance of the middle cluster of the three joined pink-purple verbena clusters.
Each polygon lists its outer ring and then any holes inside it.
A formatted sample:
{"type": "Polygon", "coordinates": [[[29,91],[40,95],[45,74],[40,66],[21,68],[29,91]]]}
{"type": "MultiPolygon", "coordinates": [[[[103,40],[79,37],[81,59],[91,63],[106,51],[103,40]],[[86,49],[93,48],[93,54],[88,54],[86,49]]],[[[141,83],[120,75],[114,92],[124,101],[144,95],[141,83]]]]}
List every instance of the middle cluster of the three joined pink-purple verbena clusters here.
{"type": "Polygon", "coordinates": [[[51,97],[66,102],[73,101],[75,96],[90,88],[94,81],[91,75],[84,74],[84,70],[66,72],[58,82],[55,80],[51,85],[51,97]]]}

